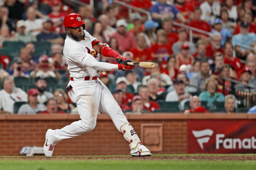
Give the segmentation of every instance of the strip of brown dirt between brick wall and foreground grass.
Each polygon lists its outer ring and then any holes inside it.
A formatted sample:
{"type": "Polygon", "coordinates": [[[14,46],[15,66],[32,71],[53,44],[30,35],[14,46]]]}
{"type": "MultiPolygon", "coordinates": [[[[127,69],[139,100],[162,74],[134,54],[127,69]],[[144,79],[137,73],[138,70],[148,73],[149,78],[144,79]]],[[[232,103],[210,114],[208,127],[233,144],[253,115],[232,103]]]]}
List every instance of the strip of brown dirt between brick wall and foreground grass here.
{"type": "Polygon", "coordinates": [[[247,160],[256,161],[256,155],[209,155],[209,156],[150,156],[150,157],[132,157],[132,156],[53,156],[52,158],[47,158],[45,156],[33,156],[33,157],[3,157],[0,159],[24,159],[24,160],[43,160],[43,159],[121,159],[121,160],[247,160]]]}

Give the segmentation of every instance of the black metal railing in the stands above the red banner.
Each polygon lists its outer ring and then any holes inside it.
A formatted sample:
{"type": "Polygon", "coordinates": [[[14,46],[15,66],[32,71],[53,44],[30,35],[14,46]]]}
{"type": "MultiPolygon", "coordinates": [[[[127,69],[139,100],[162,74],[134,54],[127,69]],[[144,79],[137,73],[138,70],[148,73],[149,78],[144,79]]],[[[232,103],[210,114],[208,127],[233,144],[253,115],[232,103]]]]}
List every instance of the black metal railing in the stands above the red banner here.
{"type": "Polygon", "coordinates": [[[256,87],[252,85],[245,85],[239,81],[233,80],[231,78],[223,78],[222,86],[223,86],[223,94],[225,94],[225,90],[227,89],[225,85],[225,81],[229,81],[231,83],[231,87],[229,88],[229,94],[233,94],[236,96],[237,100],[237,106],[238,107],[253,107],[256,105],[256,87]],[[236,84],[241,84],[244,87],[248,88],[247,89],[236,89],[235,85],[236,84]]]}

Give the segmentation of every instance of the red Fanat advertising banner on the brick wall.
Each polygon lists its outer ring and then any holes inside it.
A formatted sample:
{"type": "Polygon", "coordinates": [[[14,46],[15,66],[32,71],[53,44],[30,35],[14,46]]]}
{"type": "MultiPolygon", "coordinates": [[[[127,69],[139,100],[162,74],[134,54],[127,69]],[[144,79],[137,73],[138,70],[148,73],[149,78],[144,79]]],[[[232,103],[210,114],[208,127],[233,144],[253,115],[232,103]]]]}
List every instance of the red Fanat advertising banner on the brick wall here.
{"type": "Polygon", "coordinates": [[[256,120],[190,120],[188,153],[256,153],[256,120]]]}

